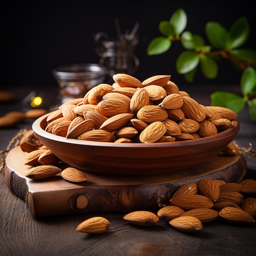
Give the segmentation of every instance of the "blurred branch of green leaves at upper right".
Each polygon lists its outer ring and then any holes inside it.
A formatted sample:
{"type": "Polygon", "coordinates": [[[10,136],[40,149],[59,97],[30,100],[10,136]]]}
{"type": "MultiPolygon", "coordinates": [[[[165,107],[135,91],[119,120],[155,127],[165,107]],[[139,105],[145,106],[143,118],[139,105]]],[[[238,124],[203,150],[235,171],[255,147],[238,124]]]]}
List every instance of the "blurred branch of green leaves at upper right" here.
{"type": "Polygon", "coordinates": [[[236,113],[249,108],[251,120],[256,121],[256,51],[240,48],[249,38],[250,28],[246,17],[236,20],[227,30],[218,22],[207,22],[205,25],[205,43],[202,36],[184,31],[187,16],[183,9],[177,9],[170,20],[159,22],[158,36],[150,41],[148,55],[167,52],[172,43],[180,42],[184,51],[177,57],[175,67],[183,74],[187,82],[192,83],[196,72],[200,70],[207,79],[215,79],[218,75],[218,62],[230,61],[237,72],[241,72],[241,95],[231,92],[216,91],[211,94],[211,105],[229,108],[236,113]]]}

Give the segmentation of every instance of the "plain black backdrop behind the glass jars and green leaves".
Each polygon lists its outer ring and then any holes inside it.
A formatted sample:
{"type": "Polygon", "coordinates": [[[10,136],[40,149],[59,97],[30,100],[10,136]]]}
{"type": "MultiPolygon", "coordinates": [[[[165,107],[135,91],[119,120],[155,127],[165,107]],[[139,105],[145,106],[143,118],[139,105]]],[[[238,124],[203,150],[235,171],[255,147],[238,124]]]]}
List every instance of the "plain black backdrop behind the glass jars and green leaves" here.
{"type": "MultiPolygon", "coordinates": [[[[106,32],[117,38],[114,20],[121,33],[131,31],[136,22],[139,44],[135,55],[140,80],[157,74],[171,74],[177,85],[186,84],[175,70],[175,60],[182,50],[180,43],[161,55],[147,56],[150,40],[161,36],[158,25],[169,20],[174,11],[183,8],[188,16],[186,30],[205,37],[208,21],[220,22],[226,29],[241,16],[247,16],[251,28],[244,47],[255,48],[255,10],[249,1],[9,1],[1,8],[1,90],[13,86],[56,86],[52,69],[71,63],[99,63],[95,53],[94,35],[106,32]]],[[[194,83],[238,84],[240,74],[227,61],[220,63],[218,78],[205,79],[200,73],[194,83]]]]}

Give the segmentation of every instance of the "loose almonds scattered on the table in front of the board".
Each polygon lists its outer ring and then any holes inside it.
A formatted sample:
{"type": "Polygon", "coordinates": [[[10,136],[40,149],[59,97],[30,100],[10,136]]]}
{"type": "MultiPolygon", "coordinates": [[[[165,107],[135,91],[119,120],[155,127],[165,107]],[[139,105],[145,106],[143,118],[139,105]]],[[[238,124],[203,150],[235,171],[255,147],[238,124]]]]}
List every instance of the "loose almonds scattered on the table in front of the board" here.
{"type": "MultiPolygon", "coordinates": [[[[181,186],[172,195],[170,205],[160,208],[157,213],[133,211],[124,216],[133,225],[152,226],[159,220],[171,227],[195,233],[204,223],[217,218],[235,223],[251,224],[256,217],[256,181],[246,179],[239,183],[203,178],[198,183],[181,186]]],[[[107,231],[110,222],[103,217],[92,217],[80,223],[77,231],[99,234],[107,231]]]]}

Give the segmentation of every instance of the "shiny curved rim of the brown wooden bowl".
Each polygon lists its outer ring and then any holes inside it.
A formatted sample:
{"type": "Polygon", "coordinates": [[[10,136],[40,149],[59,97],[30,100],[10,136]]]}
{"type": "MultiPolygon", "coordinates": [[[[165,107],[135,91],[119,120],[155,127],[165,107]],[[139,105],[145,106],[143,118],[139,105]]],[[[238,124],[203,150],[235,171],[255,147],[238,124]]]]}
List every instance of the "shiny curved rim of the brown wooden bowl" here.
{"type": "MultiPolygon", "coordinates": [[[[41,137],[51,139],[53,141],[69,143],[69,144],[77,144],[81,146],[101,146],[101,147],[117,147],[117,148],[159,148],[159,147],[180,147],[180,146],[193,146],[197,144],[209,143],[210,141],[218,141],[224,139],[226,137],[237,135],[240,130],[240,123],[237,119],[232,120],[231,127],[226,130],[219,132],[216,135],[211,135],[208,137],[203,137],[199,139],[190,139],[184,141],[172,141],[172,142],[154,142],[154,143],[113,143],[113,142],[104,142],[104,141],[86,141],[79,139],[71,139],[62,137],[59,135],[54,135],[50,132],[47,132],[43,129],[42,123],[45,122],[49,113],[39,117],[32,124],[32,130],[41,137]]],[[[46,126],[45,126],[46,127],[46,126]]],[[[235,137],[234,136],[234,137],[235,137]]]]}

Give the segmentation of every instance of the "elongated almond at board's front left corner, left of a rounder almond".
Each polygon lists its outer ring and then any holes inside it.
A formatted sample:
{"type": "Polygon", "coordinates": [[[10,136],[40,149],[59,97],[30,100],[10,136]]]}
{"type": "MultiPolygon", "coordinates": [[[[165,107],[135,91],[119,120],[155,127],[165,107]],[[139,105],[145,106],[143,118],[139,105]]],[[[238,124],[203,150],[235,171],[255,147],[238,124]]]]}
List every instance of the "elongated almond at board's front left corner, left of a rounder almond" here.
{"type": "Polygon", "coordinates": [[[30,168],[25,176],[32,180],[47,179],[60,173],[61,169],[53,165],[39,165],[30,168]]]}

